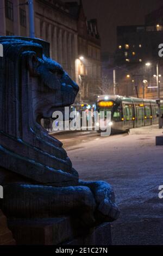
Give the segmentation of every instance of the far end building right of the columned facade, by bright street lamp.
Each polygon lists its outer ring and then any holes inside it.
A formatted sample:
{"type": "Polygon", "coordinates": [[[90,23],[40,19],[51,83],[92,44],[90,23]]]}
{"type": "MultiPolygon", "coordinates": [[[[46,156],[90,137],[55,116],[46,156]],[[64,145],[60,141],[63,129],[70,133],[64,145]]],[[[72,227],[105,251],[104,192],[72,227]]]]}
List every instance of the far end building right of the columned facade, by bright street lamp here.
{"type": "Polygon", "coordinates": [[[82,3],[67,4],[77,20],[78,58],[76,59],[76,80],[80,86],[79,101],[95,101],[101,94],[101,40],[97,20],[86,20],[82,3]]]}

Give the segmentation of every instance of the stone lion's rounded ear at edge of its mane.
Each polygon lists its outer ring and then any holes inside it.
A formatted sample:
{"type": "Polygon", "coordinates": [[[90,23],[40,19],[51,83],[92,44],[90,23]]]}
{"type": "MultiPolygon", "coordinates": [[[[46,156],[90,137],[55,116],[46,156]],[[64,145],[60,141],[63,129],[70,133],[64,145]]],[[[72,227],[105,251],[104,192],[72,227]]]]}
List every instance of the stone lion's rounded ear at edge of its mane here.
{"type": "Polygon", "coordinates": [[[31,75],[33,75],[33,76],[38,75],[37,68],[38,68],[39,64],[40,63],[36,57],[36,53],[29,52],[28,58],[27,58],[27,65],[28,65],[28,69],[29,69],[29,72],[31,75]]]}

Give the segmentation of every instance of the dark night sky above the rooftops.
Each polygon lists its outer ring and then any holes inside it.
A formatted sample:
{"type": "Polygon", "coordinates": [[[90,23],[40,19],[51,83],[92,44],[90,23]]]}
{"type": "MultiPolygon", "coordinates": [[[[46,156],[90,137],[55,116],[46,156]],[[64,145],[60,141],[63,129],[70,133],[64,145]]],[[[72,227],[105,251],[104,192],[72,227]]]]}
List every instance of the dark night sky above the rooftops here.
{"type": "Polygon", "coordinates": [[[114,53],[117,26],[143,25],[145,15],[161,4],[162,0],[83,0],[87,18],[98,19],[103,53],[114,53]]]}

